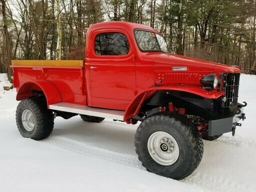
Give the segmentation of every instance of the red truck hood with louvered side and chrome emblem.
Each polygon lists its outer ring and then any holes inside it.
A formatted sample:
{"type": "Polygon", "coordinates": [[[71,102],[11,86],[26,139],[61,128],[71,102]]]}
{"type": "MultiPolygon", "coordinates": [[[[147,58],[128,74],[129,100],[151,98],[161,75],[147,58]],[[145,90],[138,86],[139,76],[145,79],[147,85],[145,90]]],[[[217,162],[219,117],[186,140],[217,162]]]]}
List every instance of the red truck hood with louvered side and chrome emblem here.
{"type": "Polygon", "coordinates": [[[235,66],[178,54],[160,53],[154,57],[154,79],[158,84],[198,84],[209,73],[240,72],[235,66]]]}

